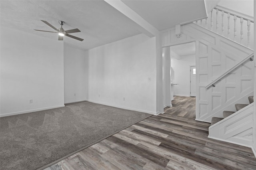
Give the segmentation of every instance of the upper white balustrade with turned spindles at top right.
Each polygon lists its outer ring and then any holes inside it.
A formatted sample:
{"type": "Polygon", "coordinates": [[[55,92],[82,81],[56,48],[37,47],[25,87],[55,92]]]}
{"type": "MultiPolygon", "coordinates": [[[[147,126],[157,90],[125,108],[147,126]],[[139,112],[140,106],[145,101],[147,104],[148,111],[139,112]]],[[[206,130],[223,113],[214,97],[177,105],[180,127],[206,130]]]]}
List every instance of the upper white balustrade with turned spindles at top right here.
{"type": "MultiPolygon", "coordinates": [[[[252,16],[248,16],[246,14],[242,14],[240,12],[234,11],[232,9],[216,6],[208,15],[206,19],[200,19],[195,22],[199,26],[212,30],[230,40],[234,40],[240,44],[243,44],[247,47],[250,47],[250,40],[252,40],[253,35],[251,37],[251,24],[254,26],[254,18],[252,16]],[[232,18],[230,18],[232,16],[232,18]],[[240,27],[237,27],[237,20],[240,18],[240,27]],[[234,20],[234,24],[230,24],[230,20],[234,20]],[[210,23],[208,24],[208,20],[210,23]],[[244,26],[244,21],[247,21],[247,42],[243,42],[244,40],[244,30],[246,26],[244,26]],[[230,29],[230,27],[234,27],[230,29]],[[237,32],[240,31],[240,39],[237,39],[237,32]],[[231,36],[231,33],[233,36],[231,36]]],[[[252,32],[253,34],[253,32],[252,32]]]]}

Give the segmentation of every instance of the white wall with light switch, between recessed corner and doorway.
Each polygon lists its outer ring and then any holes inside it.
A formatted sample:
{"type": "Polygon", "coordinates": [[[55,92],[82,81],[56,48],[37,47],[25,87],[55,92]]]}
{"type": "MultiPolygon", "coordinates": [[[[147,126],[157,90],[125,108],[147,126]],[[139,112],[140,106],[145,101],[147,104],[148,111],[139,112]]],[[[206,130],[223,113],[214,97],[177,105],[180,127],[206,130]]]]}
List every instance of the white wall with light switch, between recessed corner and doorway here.
{"type": "Polygon", "coordinates": [[[156,113],[156,38],[139,34],[88,50],[86,75],[88,101],[156,113]]]}

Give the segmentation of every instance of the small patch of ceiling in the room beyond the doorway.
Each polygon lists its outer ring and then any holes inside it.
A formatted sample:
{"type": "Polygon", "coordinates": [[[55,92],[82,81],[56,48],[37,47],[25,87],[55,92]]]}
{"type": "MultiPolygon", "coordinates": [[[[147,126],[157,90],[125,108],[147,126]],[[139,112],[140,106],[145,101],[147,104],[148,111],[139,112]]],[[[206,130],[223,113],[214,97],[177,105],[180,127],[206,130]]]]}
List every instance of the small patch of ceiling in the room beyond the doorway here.
{"type": "Polygon", "coordinates": [[[180,57],[184,55],[195,55],[196,54],[196,43],[184,43],[181,45],[174,45],[170,47],[170,50],[178,54],[180,57]]]}

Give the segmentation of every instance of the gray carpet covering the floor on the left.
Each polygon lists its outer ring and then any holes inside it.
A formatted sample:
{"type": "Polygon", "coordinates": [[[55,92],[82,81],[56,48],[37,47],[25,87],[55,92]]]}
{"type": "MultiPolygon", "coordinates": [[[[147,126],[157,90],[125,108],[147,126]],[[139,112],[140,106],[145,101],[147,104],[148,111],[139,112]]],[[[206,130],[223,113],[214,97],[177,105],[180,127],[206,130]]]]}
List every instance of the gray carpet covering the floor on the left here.
{"type": "Polygon", "coordinates": [[[0,118],[0,169],[36,170],[150,114],[87,101],[0,118]]]}

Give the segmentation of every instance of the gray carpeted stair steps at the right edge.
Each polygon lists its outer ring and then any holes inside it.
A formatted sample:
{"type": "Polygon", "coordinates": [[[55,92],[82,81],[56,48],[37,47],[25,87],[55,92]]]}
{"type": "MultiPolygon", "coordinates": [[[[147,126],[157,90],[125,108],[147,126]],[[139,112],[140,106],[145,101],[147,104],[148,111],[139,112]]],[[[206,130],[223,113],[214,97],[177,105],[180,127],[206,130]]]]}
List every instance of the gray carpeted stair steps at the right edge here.
{"type": "MultiPolygon", "coordinates": [[[[253,103],[253,96],[248,97],[249,103],[253,103]]],[[[235,104],[236,111],[243,109],[244,107],[248,106],[247,104],[235,104]]],[[[228,119],[228,117],[236,112],[233,111],[223,111],[223,118],[221,117],[212,117],[211,126],[223,119],[228,119]]]]}

